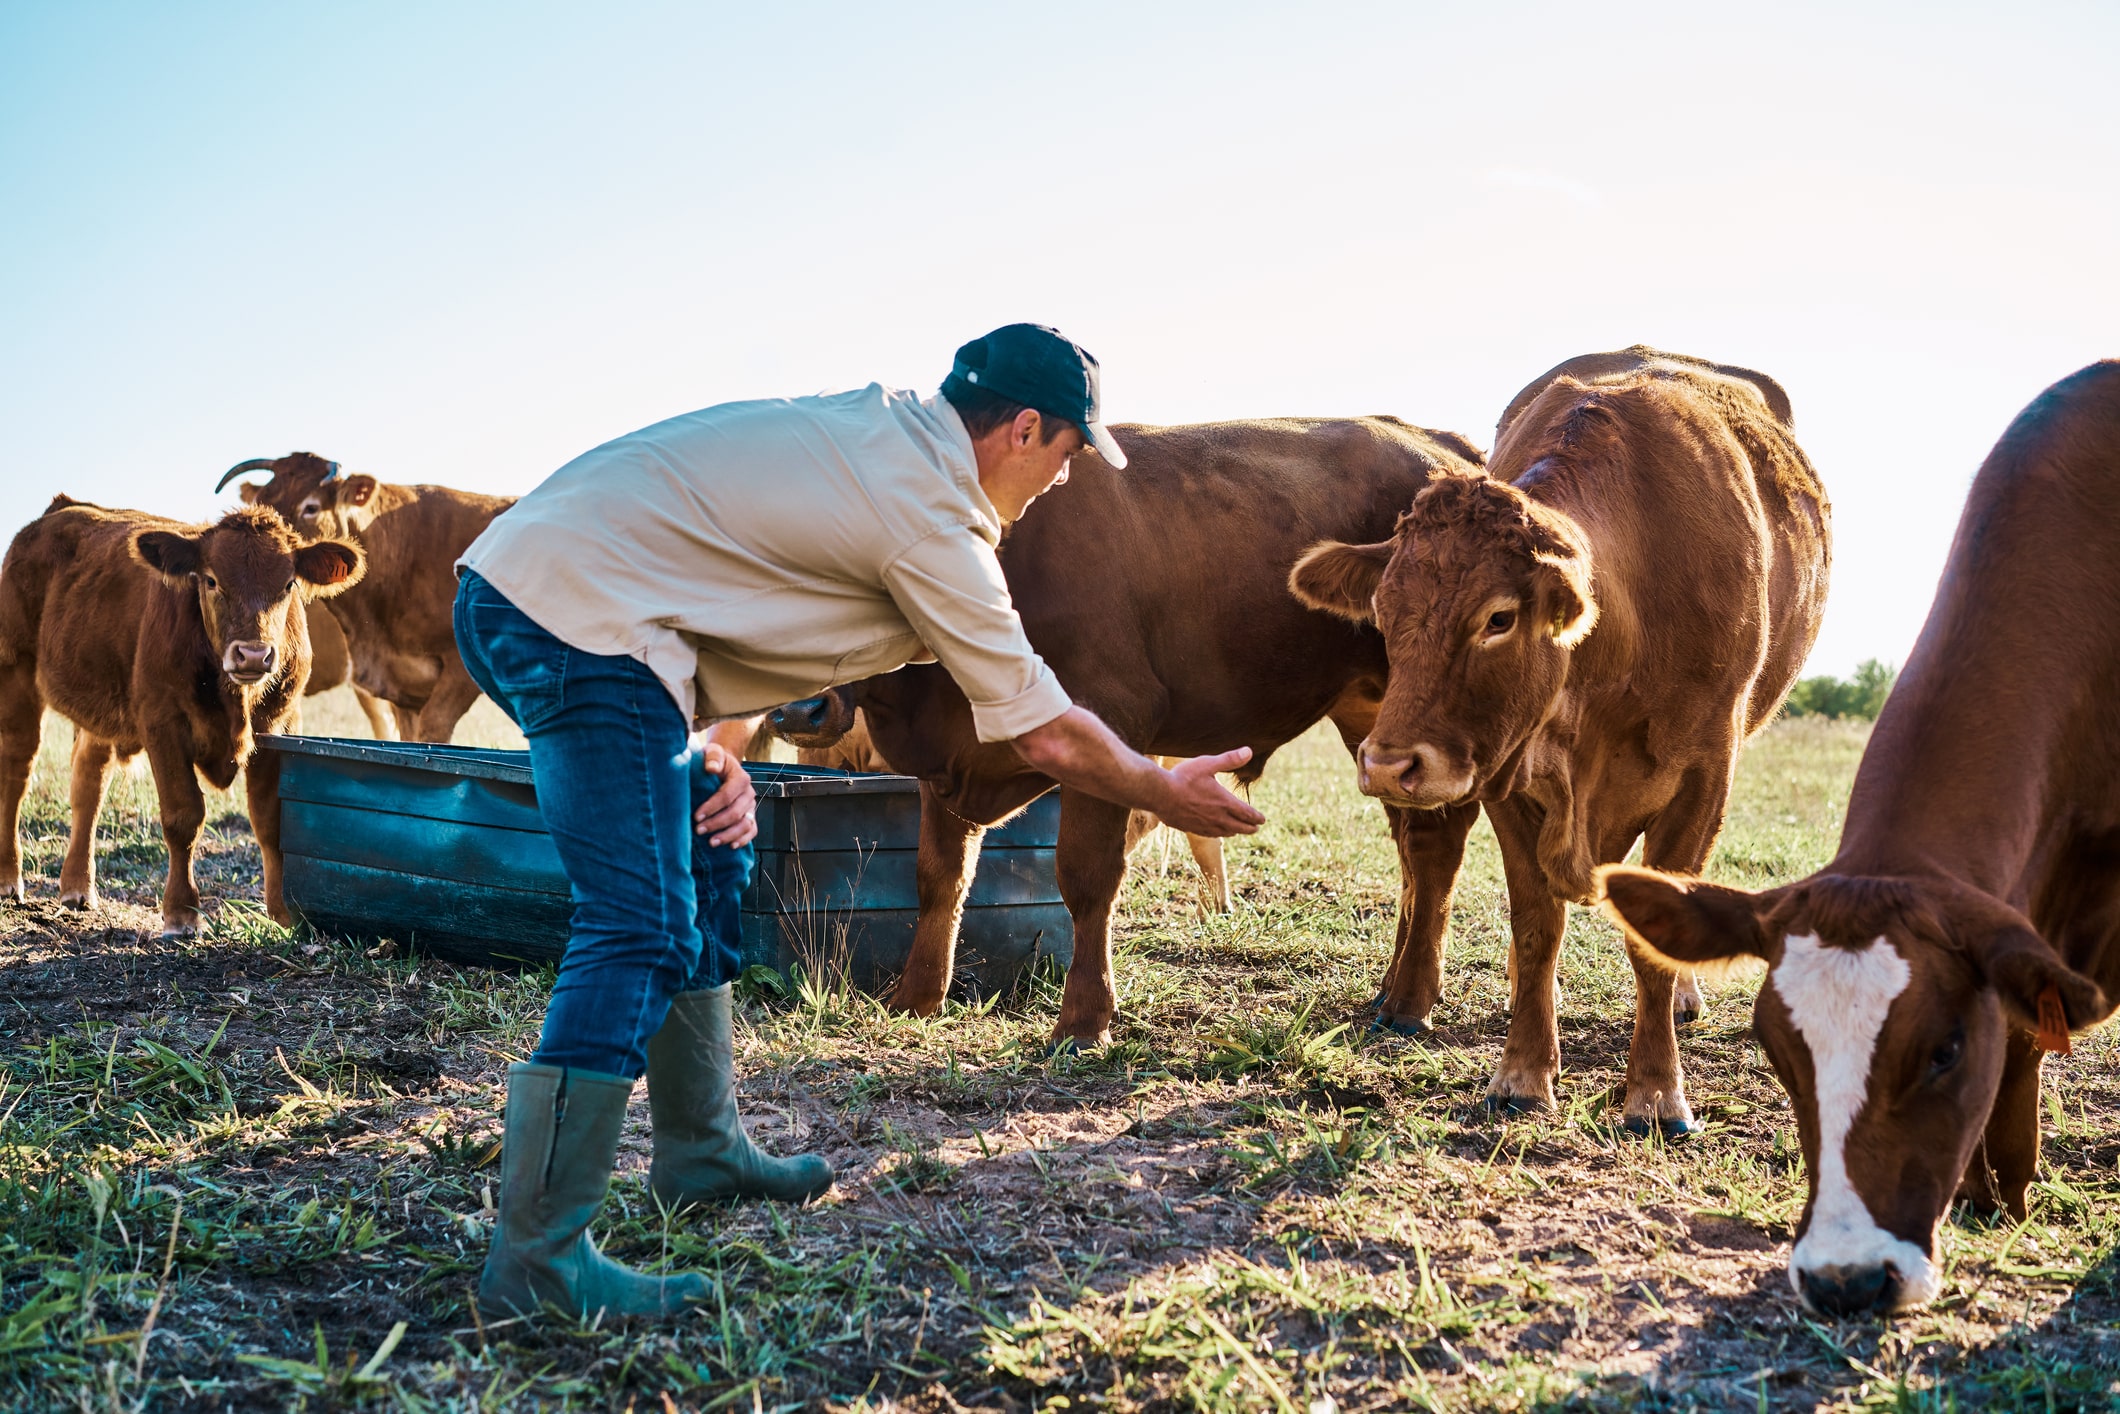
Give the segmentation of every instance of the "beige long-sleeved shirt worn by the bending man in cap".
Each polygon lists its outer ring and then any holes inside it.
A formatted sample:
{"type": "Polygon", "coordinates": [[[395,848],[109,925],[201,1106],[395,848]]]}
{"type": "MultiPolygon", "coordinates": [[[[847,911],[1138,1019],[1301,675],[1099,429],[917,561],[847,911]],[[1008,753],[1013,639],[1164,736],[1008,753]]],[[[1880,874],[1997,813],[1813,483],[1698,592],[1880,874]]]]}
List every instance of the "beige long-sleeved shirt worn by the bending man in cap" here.
{"type": "Polygon", "coordinates": [[[869,384],[606,441],[458,566],[568,647],[647,664],[687,721],[812,697],[924,644],[979,740],[1003,742],[1071,702],[1024,636],[999,543],[956,409],[869,384]]]}

